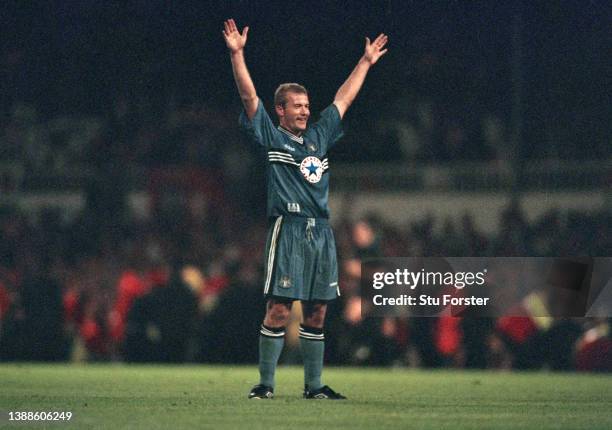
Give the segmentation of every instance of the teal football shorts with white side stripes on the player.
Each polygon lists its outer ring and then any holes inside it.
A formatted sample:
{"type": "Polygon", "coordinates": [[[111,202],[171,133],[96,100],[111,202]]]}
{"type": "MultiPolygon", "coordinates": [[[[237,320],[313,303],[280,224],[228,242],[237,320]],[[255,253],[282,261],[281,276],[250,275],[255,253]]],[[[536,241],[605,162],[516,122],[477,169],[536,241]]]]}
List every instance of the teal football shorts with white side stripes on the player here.
{"type": "Polygon", "coordinates": [[[265,255],[265,296],[326,301],[340,295],[336,242],[327,219],[273,219],[265,255]]]}

